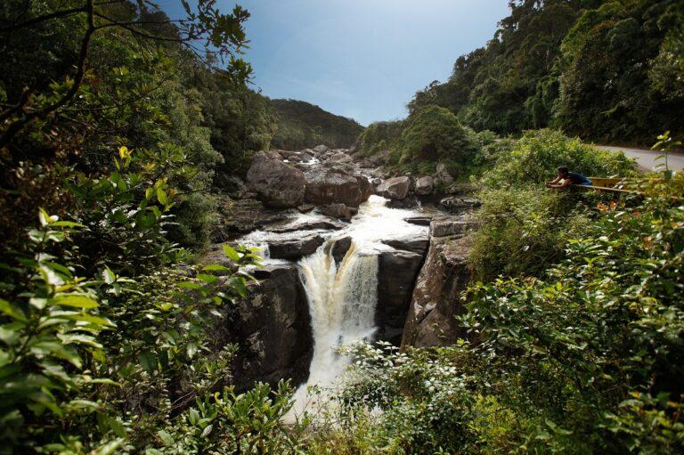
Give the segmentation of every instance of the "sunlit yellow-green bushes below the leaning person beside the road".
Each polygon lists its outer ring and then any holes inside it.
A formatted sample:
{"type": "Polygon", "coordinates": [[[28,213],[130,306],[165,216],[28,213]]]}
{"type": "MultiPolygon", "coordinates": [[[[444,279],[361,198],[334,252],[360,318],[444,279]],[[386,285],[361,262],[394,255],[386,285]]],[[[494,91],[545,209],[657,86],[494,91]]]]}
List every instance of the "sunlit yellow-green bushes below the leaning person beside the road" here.
{"type": "MultiPolygon", "coordinates": [[[[621,154],[596,150],[555,131],[526,132],[516,142],[493,144],[482,154],[481,227],[473,236],[469,262],[476,278],[538,276],[563,256],[566,239],[590,224],[587,206],[600,194],[548,191],[542,184],[567,166],[584,175],[631,175],[634,164],[621,154]],[[491,158],[490,158],[491,157],[491,158]]],[[[605,198],[604,198],[605,199],[605,198]]]]}

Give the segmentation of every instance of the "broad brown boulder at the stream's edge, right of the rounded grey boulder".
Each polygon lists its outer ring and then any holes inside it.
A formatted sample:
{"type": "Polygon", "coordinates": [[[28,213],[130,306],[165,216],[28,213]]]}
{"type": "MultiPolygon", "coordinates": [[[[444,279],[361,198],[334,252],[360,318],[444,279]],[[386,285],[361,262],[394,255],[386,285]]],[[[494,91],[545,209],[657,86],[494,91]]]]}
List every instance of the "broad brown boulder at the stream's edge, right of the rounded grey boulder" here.
{"type": "Polygon", "coordinates": [[[305,172],[305,200],[316,205],[359,205],[371,197],[371,183],[354,166],[328,161],[305,172]]]}

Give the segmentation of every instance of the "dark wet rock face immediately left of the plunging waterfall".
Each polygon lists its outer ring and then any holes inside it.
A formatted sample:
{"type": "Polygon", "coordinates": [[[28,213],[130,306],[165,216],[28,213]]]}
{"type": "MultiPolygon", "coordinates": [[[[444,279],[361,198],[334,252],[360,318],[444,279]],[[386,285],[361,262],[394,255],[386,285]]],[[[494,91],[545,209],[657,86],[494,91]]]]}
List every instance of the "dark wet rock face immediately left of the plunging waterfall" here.
{"type": "Polygon", "coordinates": [[[267,267],[260,277],[249,286],[248,297],[232,307],[217,334],[239,345],[233,365],[239,391],[256,381],[274,385],[290,378],[293,386],[304,383],[314,353],[311,317],[297,266],[267,267]]]}

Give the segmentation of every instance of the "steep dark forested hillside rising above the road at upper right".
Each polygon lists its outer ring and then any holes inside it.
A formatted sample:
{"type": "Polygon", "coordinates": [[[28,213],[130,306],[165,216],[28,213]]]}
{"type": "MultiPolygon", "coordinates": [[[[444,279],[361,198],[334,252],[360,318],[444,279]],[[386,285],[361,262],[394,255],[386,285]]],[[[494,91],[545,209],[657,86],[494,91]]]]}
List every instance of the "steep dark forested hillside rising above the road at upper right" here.
{"type": "Polygon", "coordinates": [[[485,47],[460,56],[446,82],[416,93],[411,115],[435,104],[476,131],[552,126],[617,144],[649,144],[654,131],[684,131],[680,1],[510,6],[485,47]]]}

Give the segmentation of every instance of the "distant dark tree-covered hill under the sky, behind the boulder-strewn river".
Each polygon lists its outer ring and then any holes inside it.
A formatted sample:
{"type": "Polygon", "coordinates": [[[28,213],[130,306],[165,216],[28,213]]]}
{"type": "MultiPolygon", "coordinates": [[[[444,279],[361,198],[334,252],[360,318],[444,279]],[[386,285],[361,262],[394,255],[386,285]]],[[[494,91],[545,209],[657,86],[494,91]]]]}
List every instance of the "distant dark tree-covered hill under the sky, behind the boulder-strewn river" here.
{"type": "Polygon", "coordinates": [[[354,119],[336,116],[308,102],[271,102],[278,113],[278,128],[272,142],[275,148],[297,150],[318,144],[348,148],[363,131],[354,119]]]}

